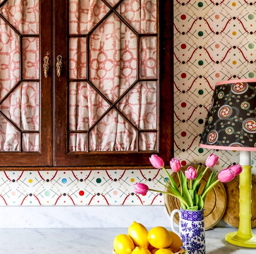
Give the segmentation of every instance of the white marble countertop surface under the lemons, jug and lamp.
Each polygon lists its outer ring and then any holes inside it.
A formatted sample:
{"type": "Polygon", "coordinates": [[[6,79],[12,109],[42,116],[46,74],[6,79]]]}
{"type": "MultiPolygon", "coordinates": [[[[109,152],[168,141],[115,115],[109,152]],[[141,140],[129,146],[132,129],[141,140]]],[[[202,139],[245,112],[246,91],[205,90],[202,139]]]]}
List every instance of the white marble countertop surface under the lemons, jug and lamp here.
{"type": "MultiPolygon", "coordinates": [[[[232,227],[216,227],[205,232],[206,254],[251,254],[256,249],[234,246],[225,241],[232,227]]],[[[256,234],[256,229],[253,229],[256,234]]],[[[127,228],[2,228],[0,254],[112,254],[116,235],[127,228]]]]}

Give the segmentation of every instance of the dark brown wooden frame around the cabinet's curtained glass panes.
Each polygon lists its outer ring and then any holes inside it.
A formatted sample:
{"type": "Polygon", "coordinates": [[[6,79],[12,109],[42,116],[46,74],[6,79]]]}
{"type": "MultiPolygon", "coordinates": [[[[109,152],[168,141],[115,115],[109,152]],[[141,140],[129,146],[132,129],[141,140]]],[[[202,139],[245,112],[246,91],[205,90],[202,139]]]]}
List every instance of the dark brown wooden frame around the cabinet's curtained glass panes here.
{"type": "MultiPolygon", "coordinates": [[[[41,71],[42,80],[42,94],[53,94],[50,96],[42,96],[42,121],[44,121],[44,128],[42,128],[40,153],[35,155],[35,159],[30,160],[26,153],[23,158],[19,158],[19,165],[11,167],[13,164],[13,156],[5,153],[0,153],[0,165],[6,166],[10,170],[87,170],[87,169],[136,169],[136,168],[152,168],[149,157],[152,151],[146,152],[93,152],[87,156],[86,166],[84,153],[76,152],[69,153],[67,148],[67,132],[68,132],[68,91],[67,91],[67,76],[68,76],[68,41],[67,34],[68,20],[61,23],[63,16],[67,16],[67,0],[41,0],[42,13],[45,13],[42,22],[44,26],[50,25],[53,16],[53,32],[49,35],[48,30],[41,30],[41,58],[44,57],[46,52],[50,52],[50,66],[52,70],[47,80],[41,71]],[[52,8],[49,6],[52,4],[52,8]],[[61,6],[61,8],[60,8],[61,6]],[[56,11],[55,11],[56,10],[56,11]],[[52,40],[54,40],[52,45],[52,40]],[[53,46],[53,50],[51,47],[53,46]],[[60,77],[56,75],[56,57],[62,54],[63,68],[60,77]],[[49,86],[50,82],[53,87],[49,86]],[[52,91],[51,91],[52,90],[52,91]],[[53,110],[51,110],[53,108],[53,110]],[[53,119],[53,122],[52,120],[53,119]],[[52,124],[55,127],[52,132],[52,124]],[[61,149],[64,148],[64,149],[61,149]],[[47,154],[46,160],[39,162],[39,158],[47,154]],[[9,158],[8,158],[9,157],[9,158]],[[6,163],[8,158],[8,163],[6,163]],[[52,159],[55,158],[55,159],[52,159]],[[98,161],[98,163],[96,163],[98,161]],[[34,165],[37,165],[34,167],[34,165]],[[26,167],[25,167],[26,166],[26,167]],[[22,167],[22,168],[20,168],[22,167]]],[[[173,157],[173,4],[169,0],[159,0],[159,26],[160,26],[160,59],[158,66],[160,75],[160,119],[162,119],[162,126],[160,127],[160,144],[159,151],[154,152],[164,159],[165,164],[169,164],[170,159],[173,157]],[[164,63],[164,64],[161,64],[164,63]]],[[[50,25],[51,26],[51,25],[50,25]]],[[[41,59],[42,64],[42,59],[41,59]]],[[[20,153],[22,154],[22,153],[20,153]]],[[[20,155],[18,155],[20,156],[20,155]]]]}

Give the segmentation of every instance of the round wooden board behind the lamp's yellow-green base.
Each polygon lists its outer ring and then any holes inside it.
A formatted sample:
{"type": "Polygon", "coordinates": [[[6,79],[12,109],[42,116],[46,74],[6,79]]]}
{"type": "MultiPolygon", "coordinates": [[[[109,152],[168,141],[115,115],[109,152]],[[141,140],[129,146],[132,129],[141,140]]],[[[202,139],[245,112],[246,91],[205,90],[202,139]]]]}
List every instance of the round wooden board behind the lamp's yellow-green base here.
{"type": "MultiPolygon", "coordinates": [[[[227,207],[223,220],[229,225],[238,228],[239,226],[239,176],[224,184],[227,195],[227,207]]],[[[252,207],[251,227],[256,227],[256,176],[252,174],[252,207]]]]}

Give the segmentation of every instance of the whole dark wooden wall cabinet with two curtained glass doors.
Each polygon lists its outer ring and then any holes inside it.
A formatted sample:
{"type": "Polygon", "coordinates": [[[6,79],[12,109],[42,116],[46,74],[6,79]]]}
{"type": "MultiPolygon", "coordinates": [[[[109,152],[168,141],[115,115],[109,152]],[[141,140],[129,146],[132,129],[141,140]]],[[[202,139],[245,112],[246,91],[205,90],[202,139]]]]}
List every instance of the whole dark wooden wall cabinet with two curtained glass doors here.
{"type": "MultiPolygon", "coordinates": [[[[19,58],[16,80],[0,74],[12,82],[4,83],[6,92],[0,88],[0,166],[148,168],[151,154],[168,163],[173,154],[170,1],[21,2],[0,3],[1,38],[12,35],[19,58]],[[13,18],[14,7],[22,22],[13,18]],[[32,21],[37,30],[26,29],[32,21]]],[[[4,54],[1,45],[0,50],[4,54]]]]}

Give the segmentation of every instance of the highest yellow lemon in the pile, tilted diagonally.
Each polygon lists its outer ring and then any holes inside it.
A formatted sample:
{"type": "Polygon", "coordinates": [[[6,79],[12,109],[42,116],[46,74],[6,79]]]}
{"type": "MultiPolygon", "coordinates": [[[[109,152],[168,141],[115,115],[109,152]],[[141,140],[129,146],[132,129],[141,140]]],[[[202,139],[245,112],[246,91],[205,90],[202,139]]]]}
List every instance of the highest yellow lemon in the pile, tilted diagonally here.
{"type": "Polygon", "coordinates": [[[136,246],[148,248],[148,230],[141,223],[132,222],[128,228],[128,236],[132,238],[136,246]]]}

